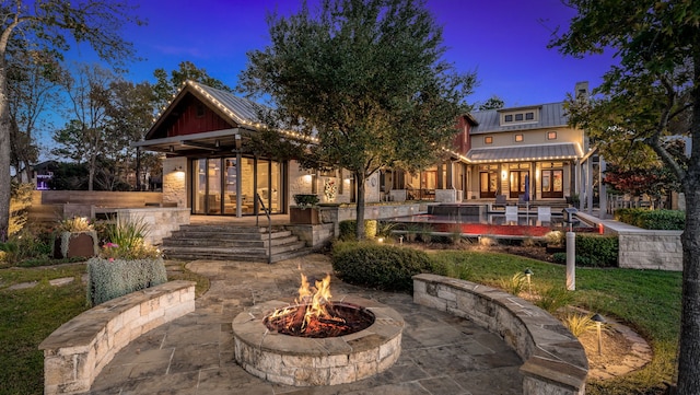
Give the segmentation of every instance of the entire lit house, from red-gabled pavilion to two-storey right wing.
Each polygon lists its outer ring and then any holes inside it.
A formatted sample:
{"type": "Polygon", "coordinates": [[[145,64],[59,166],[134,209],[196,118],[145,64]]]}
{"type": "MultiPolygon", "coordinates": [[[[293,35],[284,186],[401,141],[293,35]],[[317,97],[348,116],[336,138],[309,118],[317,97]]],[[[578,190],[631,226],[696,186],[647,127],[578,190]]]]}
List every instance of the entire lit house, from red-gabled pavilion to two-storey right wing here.
{"type": "MultiPolygon", "coordinates": [[[[187,81],[144,140],[133,143],[164,155],[163,200],[194,214],[235,217],[262,206],[285,213],[296,194],[316,194],[322,202],[355,200],[348,171],[308,171],[294,160],[247,152],[243,141],[261,127],[258,109],[252,101],[187,81]]],[[[533,200],[563,201],[581,190],[576,174],[583,173],[588,143],[582,130],[568,126],[563,103],[475,112],[459,117],[456,128],[447,160],[417,174],[377,172],[366,182],[365,201],[482,202],[499,194],[518,199],[528,190],[533,200]]]]}

